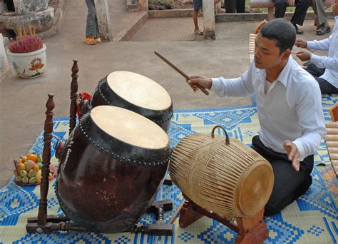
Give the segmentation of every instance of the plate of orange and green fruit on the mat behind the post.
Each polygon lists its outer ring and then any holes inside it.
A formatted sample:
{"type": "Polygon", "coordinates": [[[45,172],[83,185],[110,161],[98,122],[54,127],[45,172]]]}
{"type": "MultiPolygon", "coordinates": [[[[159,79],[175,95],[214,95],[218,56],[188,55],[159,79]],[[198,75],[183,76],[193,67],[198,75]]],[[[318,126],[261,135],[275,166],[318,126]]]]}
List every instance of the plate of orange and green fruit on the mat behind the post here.
{"type": "MultiPolygon", "coordinates": [[[[18,161],[14,160],[14,176],[18,185],[39,185],[42,177],[42,158],[35,153],[27,153],[21,156],[18,161]]],[[[56,168],[49,166],[48,179],[51,181],[56,176],[56,168]]]]}

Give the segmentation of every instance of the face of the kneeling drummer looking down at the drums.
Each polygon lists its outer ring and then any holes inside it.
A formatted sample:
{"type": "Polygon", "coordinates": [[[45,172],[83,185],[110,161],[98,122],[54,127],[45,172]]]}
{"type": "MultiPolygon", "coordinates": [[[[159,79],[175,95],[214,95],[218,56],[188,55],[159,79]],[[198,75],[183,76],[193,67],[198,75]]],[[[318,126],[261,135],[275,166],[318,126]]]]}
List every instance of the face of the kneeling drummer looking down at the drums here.
{"type": "Polygon", "coordinates": [[[273,68],[285,60],[285,52],[280,54],[280,48],[274,40],[267,39],[262,34],[257,34],[255,40],[255,65],[256,68],[273,68]]]}

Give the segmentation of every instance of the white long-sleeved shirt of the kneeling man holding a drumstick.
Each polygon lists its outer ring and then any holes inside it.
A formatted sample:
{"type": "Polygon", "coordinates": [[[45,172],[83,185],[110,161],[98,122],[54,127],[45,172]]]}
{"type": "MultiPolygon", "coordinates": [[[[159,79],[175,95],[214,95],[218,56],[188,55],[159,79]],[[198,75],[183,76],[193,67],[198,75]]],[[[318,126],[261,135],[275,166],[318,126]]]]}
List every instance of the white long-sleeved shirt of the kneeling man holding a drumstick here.
{"type": "Polygon", "coordinates": [[[278,153],[286,153],[285,140],[296,144],[303,161],[319,147],[326,133],[322,96],[316,80],[289,57],[287,64],[264,92],[266,70],[250,68],[239,78],[212,78],[210,90],[219,96],[250,96],[255,93],[260,121],[260,140],[278,153]]]}

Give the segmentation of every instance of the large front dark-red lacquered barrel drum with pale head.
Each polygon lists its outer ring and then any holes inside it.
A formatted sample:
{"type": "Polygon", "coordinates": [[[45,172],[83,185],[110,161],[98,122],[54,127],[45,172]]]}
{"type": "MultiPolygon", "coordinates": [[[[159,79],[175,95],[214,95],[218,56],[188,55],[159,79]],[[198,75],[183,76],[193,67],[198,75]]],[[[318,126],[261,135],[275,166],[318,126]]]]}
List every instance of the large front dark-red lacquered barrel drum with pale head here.
{"type": "Polygon", "coordinates": [[[88,230],[131,230],[153,202],[169,158],[169,138],[160,126],[124,108],[97,106],[66,141],[58,201],[88,230]]]}

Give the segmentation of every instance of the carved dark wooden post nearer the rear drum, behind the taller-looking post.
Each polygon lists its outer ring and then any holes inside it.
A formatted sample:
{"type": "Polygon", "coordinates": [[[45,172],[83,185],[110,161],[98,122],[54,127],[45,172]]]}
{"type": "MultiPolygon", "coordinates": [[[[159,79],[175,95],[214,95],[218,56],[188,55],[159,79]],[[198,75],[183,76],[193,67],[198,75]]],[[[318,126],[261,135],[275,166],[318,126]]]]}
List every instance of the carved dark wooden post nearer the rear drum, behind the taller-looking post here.
{"type": "Polygon", "coordinates": [[[73,59],[71,68],[71,108],[69,115],[69,134],[76,126],[76,98],[78,98],[78,61],[73,59]]]}

